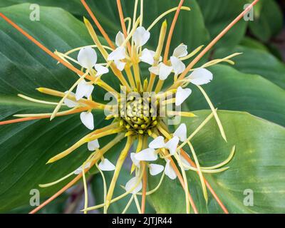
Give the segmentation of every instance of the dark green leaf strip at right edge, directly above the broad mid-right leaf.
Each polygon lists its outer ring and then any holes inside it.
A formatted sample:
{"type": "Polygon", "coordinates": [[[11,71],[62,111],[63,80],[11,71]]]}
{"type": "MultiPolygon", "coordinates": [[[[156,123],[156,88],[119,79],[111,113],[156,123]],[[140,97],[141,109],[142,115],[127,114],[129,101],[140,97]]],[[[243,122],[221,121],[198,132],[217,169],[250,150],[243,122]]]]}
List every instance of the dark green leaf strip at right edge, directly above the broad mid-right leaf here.
{"type": "Polygon", "coordinates": [[[234,68],[243,73],[258,74],[267,80],[285,88],[285,64],[268,51],[257,48],[237,46],[233,49],[220,48],[213,58],[223,58],[229,53],[243,53],[234,58],[234,68]]]}

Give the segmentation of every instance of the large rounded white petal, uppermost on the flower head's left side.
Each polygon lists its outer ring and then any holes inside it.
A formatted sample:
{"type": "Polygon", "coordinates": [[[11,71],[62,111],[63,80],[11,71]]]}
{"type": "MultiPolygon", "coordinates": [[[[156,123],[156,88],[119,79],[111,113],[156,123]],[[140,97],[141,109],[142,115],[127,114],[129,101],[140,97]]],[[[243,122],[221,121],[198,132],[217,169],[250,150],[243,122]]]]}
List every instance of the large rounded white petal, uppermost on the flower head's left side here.
{"type": "Polygon", "coordinates": [[[81,48],[77,60],[83,68],[91,69],[97,63],[97,54],[91,47],[81,48]]]}

